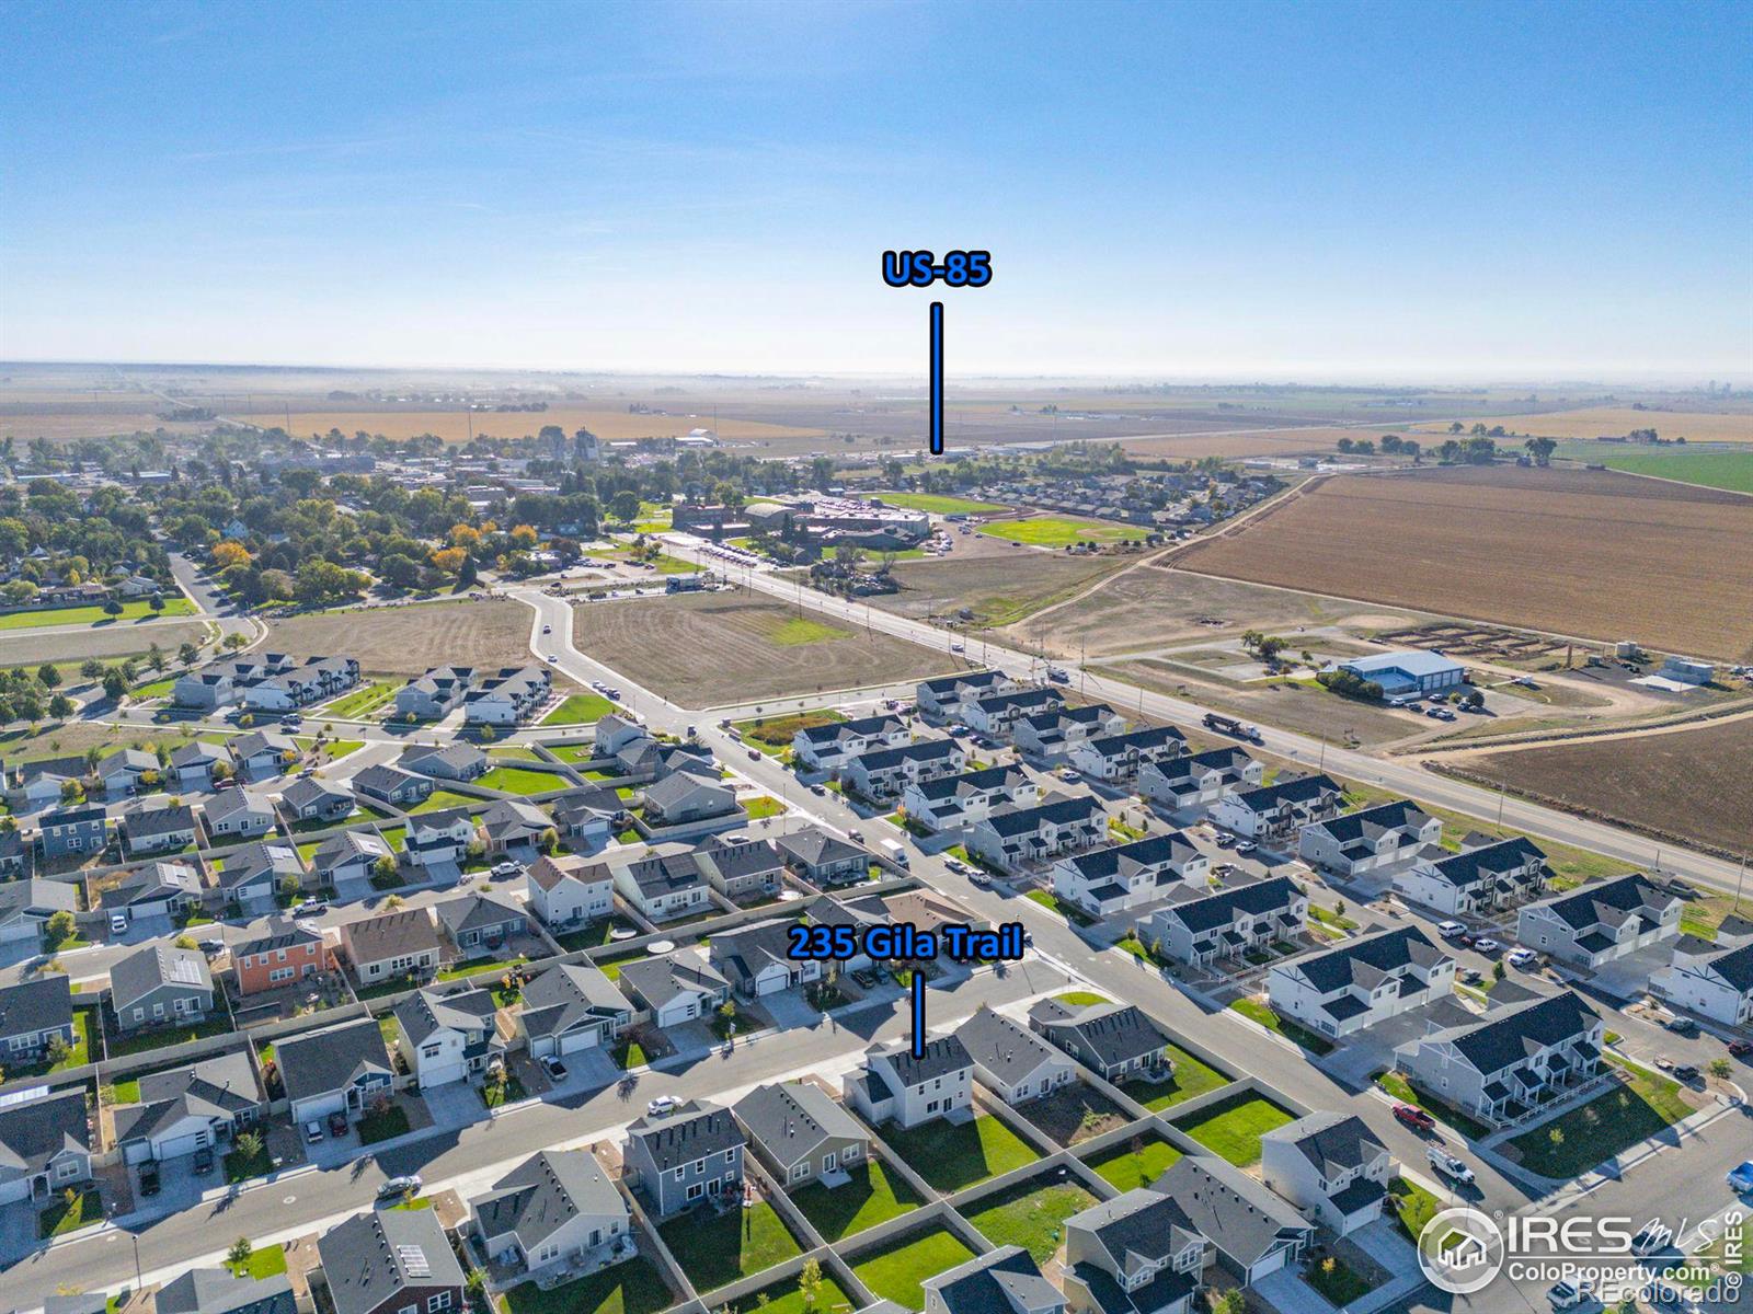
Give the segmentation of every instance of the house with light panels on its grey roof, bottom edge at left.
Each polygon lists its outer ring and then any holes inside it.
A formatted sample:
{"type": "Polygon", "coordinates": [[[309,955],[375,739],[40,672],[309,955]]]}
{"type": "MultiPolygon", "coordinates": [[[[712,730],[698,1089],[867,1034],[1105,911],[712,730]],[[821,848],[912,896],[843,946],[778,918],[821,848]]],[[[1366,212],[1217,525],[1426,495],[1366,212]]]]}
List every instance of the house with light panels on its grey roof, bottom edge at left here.
{"type": "Polygon", "coordinates": [[[335,1314],[461,1310],[463,1265],[435,1209],[352,1214],[317,1239],[335,1314]]]}

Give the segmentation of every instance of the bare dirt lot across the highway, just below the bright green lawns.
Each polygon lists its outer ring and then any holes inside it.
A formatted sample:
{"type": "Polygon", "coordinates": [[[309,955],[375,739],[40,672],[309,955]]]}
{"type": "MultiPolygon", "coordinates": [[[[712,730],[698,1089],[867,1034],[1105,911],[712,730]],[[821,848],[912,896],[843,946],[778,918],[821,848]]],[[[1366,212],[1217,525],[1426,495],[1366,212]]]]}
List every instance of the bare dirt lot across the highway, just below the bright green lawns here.
{"type": "MultiPolygon", "coordinates": [[[[978,536],[975,536],[978,538],[978,536]]],[[[964,555],[961,543],[950,561],[903,561],[894,568],[901,592],[871,597],[884,611],[908,617],[973,611],[971,625],[1008,625],[1120,569],[1136,557],[1073,557],[1033,552],[996,540],[990,550],[964,555]]]]}

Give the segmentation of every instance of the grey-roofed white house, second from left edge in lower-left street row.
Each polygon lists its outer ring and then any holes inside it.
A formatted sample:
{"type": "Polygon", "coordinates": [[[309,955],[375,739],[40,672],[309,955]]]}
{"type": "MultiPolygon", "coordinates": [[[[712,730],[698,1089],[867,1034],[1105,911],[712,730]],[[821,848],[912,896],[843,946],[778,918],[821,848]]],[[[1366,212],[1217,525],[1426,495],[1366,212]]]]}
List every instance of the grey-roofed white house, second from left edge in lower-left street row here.
{"type": "Polygon", "coordinates": [[[116,1107],[116,1148],[126,1163],[212,1149],[261,1121],[266,1102],[247,1049],[138,1077],[140,1099],[116,1107]]]}

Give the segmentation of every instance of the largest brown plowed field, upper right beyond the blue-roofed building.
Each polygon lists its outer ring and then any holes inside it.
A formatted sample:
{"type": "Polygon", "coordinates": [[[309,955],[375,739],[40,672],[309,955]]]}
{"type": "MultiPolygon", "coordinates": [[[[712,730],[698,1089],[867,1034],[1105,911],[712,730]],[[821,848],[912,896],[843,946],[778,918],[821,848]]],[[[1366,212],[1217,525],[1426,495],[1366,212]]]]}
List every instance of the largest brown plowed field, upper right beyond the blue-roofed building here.
{"type": "Polygon", "coordinates": [[[1753,501],[1611,471],[1339,477],[1178,557],[1194,571],[1662,652],[1753,655],[1753,501]]]}

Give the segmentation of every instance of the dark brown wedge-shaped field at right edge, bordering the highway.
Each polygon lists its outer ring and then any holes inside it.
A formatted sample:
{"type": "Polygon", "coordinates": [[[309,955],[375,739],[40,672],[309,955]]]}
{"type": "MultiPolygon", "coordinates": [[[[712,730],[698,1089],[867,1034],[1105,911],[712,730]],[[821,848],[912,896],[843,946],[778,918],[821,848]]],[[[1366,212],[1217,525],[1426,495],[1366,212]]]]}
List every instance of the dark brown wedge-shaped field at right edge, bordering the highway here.
{"type": "Polygon", "coordinates": [[[1753,850],[1753,718],[1455,760],[1518,794],[1725,853],[1753,850]]]}

